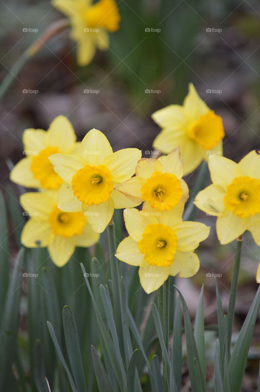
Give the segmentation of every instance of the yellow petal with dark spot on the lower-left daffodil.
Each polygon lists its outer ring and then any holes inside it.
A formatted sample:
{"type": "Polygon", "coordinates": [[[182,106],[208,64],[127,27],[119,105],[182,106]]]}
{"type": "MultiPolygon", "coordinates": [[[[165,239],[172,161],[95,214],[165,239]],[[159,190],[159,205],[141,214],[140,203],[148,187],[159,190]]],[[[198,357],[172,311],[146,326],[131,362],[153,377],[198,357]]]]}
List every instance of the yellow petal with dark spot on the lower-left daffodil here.
{"type": "Polygon", "coordinates": [[[23,227],[21,242],[27,248],[46,247],[51,240],[51,234],[49,222],[29,219],[23,227]]]}

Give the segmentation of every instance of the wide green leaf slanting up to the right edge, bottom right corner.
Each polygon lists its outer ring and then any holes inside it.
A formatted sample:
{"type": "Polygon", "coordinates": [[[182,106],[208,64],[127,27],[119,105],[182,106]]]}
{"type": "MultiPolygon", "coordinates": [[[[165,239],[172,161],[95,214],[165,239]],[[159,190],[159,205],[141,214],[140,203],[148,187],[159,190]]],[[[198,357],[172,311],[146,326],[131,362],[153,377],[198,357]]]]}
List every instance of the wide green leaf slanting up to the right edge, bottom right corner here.
{"type": "Polygon", "coordinates": [[[260,305],[260,286],[238,335],[229,361],[229,383],[231,392],[241,390],[246,369],[247,355],[253,336],[258,309],[260,305]]]}

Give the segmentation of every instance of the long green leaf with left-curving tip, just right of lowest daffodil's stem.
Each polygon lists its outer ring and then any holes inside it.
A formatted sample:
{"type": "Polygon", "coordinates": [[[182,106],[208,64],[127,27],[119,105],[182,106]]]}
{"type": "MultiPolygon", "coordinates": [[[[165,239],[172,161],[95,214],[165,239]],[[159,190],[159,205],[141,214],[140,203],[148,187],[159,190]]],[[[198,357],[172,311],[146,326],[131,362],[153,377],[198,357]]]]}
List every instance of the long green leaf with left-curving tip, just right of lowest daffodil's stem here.
{"type": "Polygon", "coordinates": [[[198,354],[195,338],[193,335],[193,328],[191,325],[191,319],[190,319],[190,315],[188,312],[188,308],[187,308],[185,299],[183,298],[180,290],[176,286],[175,286],[175,288],[179,292],[179,295],[181,298],[181,303],[182,303],[183,315],[184,315],[184,328],[185,328],[185,334],[186,334],[186,347],[187,347],[191,390],[192,390],[192,392],[198,392],[197,382],[196,382],[196,378],[195,378],[195,374],[194,374],[194,358],[197,360],[196,366],[198,366],[198,368],[199,368],[200,379],[203,380],[202,372],[201,372],[201,368],[200,368],[200,362],[199,362],[199,354],[198,354]]]}

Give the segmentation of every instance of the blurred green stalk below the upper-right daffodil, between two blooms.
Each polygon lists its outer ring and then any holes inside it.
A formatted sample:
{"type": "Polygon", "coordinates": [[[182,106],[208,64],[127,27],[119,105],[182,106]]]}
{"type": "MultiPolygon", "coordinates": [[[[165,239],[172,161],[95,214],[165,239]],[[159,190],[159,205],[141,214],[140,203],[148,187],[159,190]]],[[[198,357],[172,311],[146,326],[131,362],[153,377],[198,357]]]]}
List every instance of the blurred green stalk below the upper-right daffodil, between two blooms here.
{"type": "Polygon", "coordinates": [[[195,197],[201,191],[205,186],[208,181],[209,177],[209,170],[208,170],[208,164],[207,162],[203,162],[200,168],[198,169],[198,174],[195,180],[195,183],[193,185],[192,190],[190,191],[190,198],[188,201],[188,205],[185,209],[184,215],[183,215],[183,220],[184,221],[194,221],[198,212],[197,207],[193,203],[195,200],[195,197]]]}

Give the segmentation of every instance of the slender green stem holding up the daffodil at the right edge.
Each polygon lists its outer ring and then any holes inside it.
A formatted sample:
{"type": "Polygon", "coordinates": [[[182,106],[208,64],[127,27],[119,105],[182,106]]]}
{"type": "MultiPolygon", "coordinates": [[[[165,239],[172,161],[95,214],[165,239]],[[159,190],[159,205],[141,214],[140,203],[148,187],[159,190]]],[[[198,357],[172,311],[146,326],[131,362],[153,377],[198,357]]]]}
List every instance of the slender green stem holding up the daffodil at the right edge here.
{"type": "Polygon", "coordinates": [[[227,352],[228,352],[229,358],[230,358],[232,327],[233,327],[234,314],[235,314],[235,303],[236,303],[236,297],[237,297],[237,286],[238,286],[238,276],[239,276],[239,270],[240,270],[241,250],[242,250],[242,236],[240,236],[237,239],[235,264],[234,264],[232,283],[231,283],[231,292],[230,292],[228,312],[227,312],[227,352]]]}

